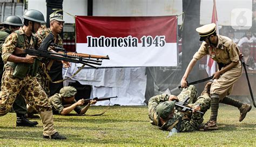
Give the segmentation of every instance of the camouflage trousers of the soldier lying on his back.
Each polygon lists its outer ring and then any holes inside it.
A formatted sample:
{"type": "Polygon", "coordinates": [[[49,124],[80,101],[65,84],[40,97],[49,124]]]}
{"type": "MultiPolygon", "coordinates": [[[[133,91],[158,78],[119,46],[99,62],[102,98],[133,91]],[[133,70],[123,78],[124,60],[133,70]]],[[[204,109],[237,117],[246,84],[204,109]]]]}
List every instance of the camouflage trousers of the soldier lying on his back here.
{"type": "Polygon", "coordinates": [[[188,104],[190,107],[201,104],[201,111],[206,112],[211,107],[211,97],[207,93],[197,97],[197,89],[195,86],[190,85],[188,88],[184,88],[177,96],[179,101],[183,101],[186,96],[189,96],[188,104]]]}

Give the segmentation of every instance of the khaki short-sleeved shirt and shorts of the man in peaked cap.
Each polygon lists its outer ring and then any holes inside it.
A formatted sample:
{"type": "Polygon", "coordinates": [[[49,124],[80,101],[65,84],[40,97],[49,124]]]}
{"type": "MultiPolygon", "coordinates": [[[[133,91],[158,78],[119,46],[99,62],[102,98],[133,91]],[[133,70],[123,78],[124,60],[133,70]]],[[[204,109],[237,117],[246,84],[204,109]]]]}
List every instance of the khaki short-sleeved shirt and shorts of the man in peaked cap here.
{"type": "MultiPolygon", "coordinates": [[[[199,50],[194,54],[194,59],[201,59],[206,54],[209,55],[214,61],[218,63],[228,65],[232,61],[239,61],[239,48],[237,44],[225,36],[218,36],[217,47],[208,45],[205,41],[201,44],[199,50]]],[[[234,82],[242,74],[241,62],[238,65],[234,66],[230,71],[225,72],[220,76],[219,79],[215,79],[211,86],[211,94],[220,95],[220,100],[222,100],[226,95],[231,94],[234,82]]]]}

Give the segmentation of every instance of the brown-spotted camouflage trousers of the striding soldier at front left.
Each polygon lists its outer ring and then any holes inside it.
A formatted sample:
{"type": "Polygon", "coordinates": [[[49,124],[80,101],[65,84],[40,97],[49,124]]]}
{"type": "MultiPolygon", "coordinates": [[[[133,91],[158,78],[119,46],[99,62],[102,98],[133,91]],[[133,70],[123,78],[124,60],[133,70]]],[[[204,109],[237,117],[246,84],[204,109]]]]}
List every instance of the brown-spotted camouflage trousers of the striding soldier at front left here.
{"type": "Polygon", "coordinates": [[[14,78],[12,73],[14,69],[7,65],[2,78],[2,103],[0,104],[0,115],[9,112],[17,95],[24,90],[26,101],[36,109],[38,113],[50,111],[51,107],[48,102],[48,96],[35,77],[26,75],[22,80],[14,78]]]}

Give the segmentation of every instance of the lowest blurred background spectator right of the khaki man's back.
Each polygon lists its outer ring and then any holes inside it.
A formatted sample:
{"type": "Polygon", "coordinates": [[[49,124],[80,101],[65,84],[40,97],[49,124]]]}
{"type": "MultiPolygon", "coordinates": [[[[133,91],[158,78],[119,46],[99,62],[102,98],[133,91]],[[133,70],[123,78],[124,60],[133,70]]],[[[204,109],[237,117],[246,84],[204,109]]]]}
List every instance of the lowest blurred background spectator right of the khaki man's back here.
{"type": "Polygon", "coordinates": [[[244,54],[245,64],[248,65],[247,69],[253,70],[255,67],[254,59],[251,56],[251,47],[248,44],[242,44],[242,53],[244,54]]]}

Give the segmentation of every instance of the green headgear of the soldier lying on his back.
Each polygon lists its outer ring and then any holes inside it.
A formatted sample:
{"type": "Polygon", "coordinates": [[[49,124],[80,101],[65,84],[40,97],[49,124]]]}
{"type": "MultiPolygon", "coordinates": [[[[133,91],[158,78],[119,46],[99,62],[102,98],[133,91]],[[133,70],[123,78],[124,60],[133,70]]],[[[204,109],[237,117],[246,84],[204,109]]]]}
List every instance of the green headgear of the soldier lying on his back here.
{"type": "Polygon", "coordinates": [[[156,113],[162,118],[167,118],[174,109],[175,103],[173,101],[165,101],[158,104],[156,113]]]}

